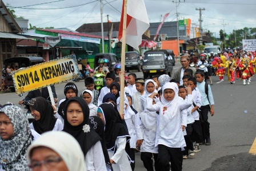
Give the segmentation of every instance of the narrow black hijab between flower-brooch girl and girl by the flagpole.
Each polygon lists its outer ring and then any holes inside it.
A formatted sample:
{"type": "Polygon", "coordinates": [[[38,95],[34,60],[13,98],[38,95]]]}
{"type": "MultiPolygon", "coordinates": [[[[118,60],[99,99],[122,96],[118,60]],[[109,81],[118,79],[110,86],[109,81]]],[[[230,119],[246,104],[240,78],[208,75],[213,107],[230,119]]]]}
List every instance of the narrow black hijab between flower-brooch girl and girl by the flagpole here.
{"type": "Polygon", "coordinates": [[[93,127],[95,132],[98,133],[99,137],[101,137],[101,146],[102,146],[106,165],[109,167],[109,169],[113,171],[113,168],[110,164],[109,153],[107,153],[103,121],[98,116],[90,116],[89,119],[90,119],[91,127],[93,127]]]}

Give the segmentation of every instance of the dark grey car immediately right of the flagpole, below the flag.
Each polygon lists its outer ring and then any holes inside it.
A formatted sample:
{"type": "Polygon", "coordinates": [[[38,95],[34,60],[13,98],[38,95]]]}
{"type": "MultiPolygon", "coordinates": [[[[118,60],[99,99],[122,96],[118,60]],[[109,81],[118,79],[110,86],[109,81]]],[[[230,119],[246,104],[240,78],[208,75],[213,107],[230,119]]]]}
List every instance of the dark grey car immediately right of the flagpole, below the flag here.
{"type": "Polygon", "coordinates": [[[125,71],[130,70],[141,71],[141,60],[139,60],[139,53],[137,51],[125,52],[125,71]]]}

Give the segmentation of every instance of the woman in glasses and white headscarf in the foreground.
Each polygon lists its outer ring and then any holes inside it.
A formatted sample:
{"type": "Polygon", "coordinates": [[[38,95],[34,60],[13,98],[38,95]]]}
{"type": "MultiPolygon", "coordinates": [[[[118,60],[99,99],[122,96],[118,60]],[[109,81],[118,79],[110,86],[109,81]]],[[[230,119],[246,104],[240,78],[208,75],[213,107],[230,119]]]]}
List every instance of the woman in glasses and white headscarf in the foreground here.
{"type": "Polygon", "coordinates": [[[29,146],[27,159],[32,170],[42,167],[59,171],[87,170],[80,145],[66,132],[43,133],[29,146]]]}

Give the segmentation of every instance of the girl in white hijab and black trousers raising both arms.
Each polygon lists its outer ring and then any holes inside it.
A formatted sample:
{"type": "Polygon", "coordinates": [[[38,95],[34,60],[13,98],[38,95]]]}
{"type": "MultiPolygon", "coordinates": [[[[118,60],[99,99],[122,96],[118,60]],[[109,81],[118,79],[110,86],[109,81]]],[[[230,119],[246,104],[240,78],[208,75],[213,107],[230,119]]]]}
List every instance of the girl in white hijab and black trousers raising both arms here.
{"type": "MultiPolygon", "coordinates": [[[[187,116],[182,111],[192,104],[193,96],[190,87],[186,88],[187,99],[178,96],[176,83],[166,83],[163,86],[161,101],[153,103],[153,98],[158,96],[152,93],[147,97],[147,109],[159,112],[159,126],[157,127],[158,162],[160,170],[182,170],[183,146],[186,146],[183,131],[187,125],[187,116]]],[[[185,113],[186,114],[186,113],[185,113]]]]}

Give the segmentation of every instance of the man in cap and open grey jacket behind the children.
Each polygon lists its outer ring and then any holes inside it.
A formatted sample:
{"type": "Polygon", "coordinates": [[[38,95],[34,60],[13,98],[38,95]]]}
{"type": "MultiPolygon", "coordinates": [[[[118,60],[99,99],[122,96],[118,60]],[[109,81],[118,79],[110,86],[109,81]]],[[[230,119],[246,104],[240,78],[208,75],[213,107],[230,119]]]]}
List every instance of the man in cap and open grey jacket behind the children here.
{"type": "Polygon", "coordinates": [[[182,67],[179,68],[177,71],[175,71],[173,75],[173,79],[178,80],[179,85],[183,85],[182,78],[183,78],[184,71],[187,68],[190,68],[191,70],[193,70],[193,76],[195,76],[195,68],[189,67],[189,62],[190,62],[189,54],[184,54],[183,56],[181,56],[182,67]]]}

